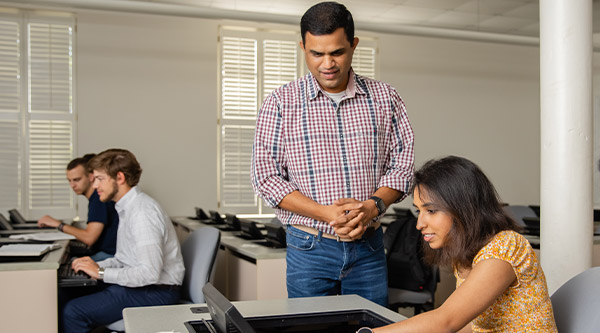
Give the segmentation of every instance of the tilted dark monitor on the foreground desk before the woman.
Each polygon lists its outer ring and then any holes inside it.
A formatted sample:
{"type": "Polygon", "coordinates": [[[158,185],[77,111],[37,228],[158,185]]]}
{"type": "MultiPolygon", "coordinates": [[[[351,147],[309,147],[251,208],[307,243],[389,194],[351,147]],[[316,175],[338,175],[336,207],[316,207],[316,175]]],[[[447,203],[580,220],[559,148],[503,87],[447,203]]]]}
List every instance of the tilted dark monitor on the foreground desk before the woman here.
{"type": "Polygon", "coordinates": [[[204,285],[202,293],[206,299],[206,305],[212,322],[217,326],[219,332],[233,333],[255,333],[254,329],[242,317],[240,312],[223,294],[221,294],[210,282],[204,285]]]}

